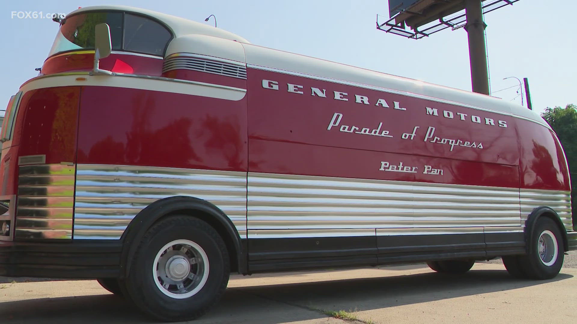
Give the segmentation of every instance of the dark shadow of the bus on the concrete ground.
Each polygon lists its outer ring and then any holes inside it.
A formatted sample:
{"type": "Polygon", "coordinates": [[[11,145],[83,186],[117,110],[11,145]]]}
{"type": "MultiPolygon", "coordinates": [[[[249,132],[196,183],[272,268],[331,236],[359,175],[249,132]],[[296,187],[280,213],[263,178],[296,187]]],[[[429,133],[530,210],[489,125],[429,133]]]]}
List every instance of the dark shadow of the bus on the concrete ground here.
{"type": "MultiPolygon", "coordinates": [[[[567,280],[518,280],[504,270],[471,270],[459,276],[420,273],[228,288],[218,306],[194,321],[279,324],[327,318],[319,310],[374,310],[435,300],[508,291],[567,280]]],[[[121,297],[111,294],[0,303],[2,323],[152,323],[121,297]]],[[[316,322],[316,321],[314,321],[316,322]]]]}

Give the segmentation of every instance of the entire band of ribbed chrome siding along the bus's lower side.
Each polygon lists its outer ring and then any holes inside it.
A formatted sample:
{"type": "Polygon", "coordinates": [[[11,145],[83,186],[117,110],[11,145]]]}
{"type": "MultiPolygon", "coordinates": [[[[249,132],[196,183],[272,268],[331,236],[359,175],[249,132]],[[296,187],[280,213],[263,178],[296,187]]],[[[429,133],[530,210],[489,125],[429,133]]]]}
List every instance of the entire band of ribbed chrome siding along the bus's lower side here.
{"type": "MultiPolygon", "coordinates": [[[[21,175],[20,224],[61,228],[61,219],[72,220],[66,195],[74,190],[70,178],[27,176],[21,175]],[[51,184],[51,190],[39,196],[39,183],[51,184]]],[[[249,238],[521,232],[538,206],[553,208],[571,228],[570,197],[564,191],[519,193],[457,184],[252,172],[247,178],[245,172],[232,171],[77,165],[74,192],[75,239],[119,239],[140,210],[174,195],[212,202],[241,236],[247,237],[248,230],[249,238]]]]}

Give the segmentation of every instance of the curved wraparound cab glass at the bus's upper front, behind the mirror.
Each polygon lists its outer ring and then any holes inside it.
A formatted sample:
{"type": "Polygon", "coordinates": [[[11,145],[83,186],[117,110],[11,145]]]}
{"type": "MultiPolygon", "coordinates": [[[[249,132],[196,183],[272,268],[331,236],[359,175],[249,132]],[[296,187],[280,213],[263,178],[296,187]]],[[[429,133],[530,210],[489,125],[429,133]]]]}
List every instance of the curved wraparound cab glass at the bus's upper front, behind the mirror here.
{"type": "Polygon", "coordinates": [[[171,33],[156,21],[121,12],[95,12],[68,17],[58,31],[48,56],[94,48],[94,27],[106,22],[110,27],[113,51],[164,54],[171,33]]]}

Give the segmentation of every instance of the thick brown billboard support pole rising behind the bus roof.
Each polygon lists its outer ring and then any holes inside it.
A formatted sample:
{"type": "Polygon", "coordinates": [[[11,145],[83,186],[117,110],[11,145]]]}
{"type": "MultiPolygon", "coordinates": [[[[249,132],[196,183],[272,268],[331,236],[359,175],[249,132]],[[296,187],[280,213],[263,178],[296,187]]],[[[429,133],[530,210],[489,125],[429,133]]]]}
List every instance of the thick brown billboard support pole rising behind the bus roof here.
{"type": "Polygon", "coordinates": [[[481,0],[465,0],[467,24],[465,29],[469,38],[469,61],[471,65],[471,85],[473,92],[489,95],[489,71],[485,47],[485,22],[481,0]]]}

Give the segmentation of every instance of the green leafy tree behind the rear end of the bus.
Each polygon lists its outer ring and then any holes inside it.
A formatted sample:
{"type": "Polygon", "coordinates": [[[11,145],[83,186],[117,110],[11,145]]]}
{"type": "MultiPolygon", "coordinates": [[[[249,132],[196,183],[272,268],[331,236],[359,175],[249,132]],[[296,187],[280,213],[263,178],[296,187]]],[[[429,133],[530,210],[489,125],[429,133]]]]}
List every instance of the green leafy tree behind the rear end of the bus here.
{"type": "Polygon", "coordinates": [[[545,109],[541,116],[547,120],[557,133],[571,173],[571,206],[573,226],[577,227],[577,106],[568,104],[565,108],[554,107],[545,109]]]}

